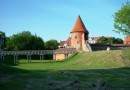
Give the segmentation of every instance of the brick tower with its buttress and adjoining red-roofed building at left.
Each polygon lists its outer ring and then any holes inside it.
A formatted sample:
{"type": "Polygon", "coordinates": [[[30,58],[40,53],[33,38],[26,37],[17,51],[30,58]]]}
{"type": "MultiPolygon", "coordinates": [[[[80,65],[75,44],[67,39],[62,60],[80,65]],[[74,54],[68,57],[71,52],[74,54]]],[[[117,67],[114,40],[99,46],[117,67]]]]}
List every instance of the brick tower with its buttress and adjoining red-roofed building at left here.
{"type": "Polygon", "coordinates": [[[89,51],[87,43],[89,32],[80,16],[78,16],[70,34],[71,37],[69,37],[66,41],[60,42],[61,47],[76,48],[78,51],[89,51]]]}

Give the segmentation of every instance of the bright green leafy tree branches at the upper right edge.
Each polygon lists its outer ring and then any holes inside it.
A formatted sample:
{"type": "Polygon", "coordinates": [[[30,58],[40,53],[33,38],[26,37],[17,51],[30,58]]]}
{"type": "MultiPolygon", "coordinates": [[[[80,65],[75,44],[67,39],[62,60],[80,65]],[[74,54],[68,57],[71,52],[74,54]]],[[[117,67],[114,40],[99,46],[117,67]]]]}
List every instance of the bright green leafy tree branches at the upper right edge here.
{"type": "Polygon", "coordinates": [[[114,30],[130,36],[130,2],[127,0],[114,15],[114,30]]]}

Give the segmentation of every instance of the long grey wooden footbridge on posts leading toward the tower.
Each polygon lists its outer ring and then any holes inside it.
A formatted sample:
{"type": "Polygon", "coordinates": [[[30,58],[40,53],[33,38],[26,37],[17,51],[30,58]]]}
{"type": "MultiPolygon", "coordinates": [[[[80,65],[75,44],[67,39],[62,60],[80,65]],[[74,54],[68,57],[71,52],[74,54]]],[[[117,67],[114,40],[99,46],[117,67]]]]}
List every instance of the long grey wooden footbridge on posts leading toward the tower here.
{"type": "MultiPolygon", "coordinates": [[[[55,57],[56,54],[73,54],[77,53],[76,50],[67,50],[67,51],[57,51],[57,50],[26,50],[26,51],[0,51],[0,59],[4,62],[5,56],[12,55],[14,56],[14,64],[18,64],[18,56],[26,55],[28,63],[31,62],[32,55],[39,55],[40,60],[44,60],[44,55],[53,55],[55,57]]],[[[55,58],[53,58],[55,60],[55,58]]]]}

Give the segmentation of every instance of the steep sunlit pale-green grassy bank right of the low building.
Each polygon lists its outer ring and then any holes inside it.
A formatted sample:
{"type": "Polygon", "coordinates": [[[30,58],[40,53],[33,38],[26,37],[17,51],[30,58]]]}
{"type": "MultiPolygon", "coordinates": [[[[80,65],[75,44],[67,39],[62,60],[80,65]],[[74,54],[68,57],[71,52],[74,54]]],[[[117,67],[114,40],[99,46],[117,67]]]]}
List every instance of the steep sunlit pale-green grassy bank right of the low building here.
{"type": "Polygon", "coordinates": [[[121,51],[82,52],[67,64],[83,68],[113,68],[123,66],[121,51]]]}

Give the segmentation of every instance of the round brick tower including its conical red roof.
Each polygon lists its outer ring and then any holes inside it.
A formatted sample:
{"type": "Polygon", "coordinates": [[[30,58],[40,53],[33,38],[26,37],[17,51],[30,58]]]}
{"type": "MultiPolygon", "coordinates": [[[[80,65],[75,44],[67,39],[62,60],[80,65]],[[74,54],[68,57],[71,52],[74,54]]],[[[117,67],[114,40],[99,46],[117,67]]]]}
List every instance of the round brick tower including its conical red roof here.
{"type": "Polygon", "coordinates": [[[71,47],[82,51],[85,41],[88,40],[88,30],[85,28],[82,19],[78,16],[76,23],[71,30],[71,47]]]}

